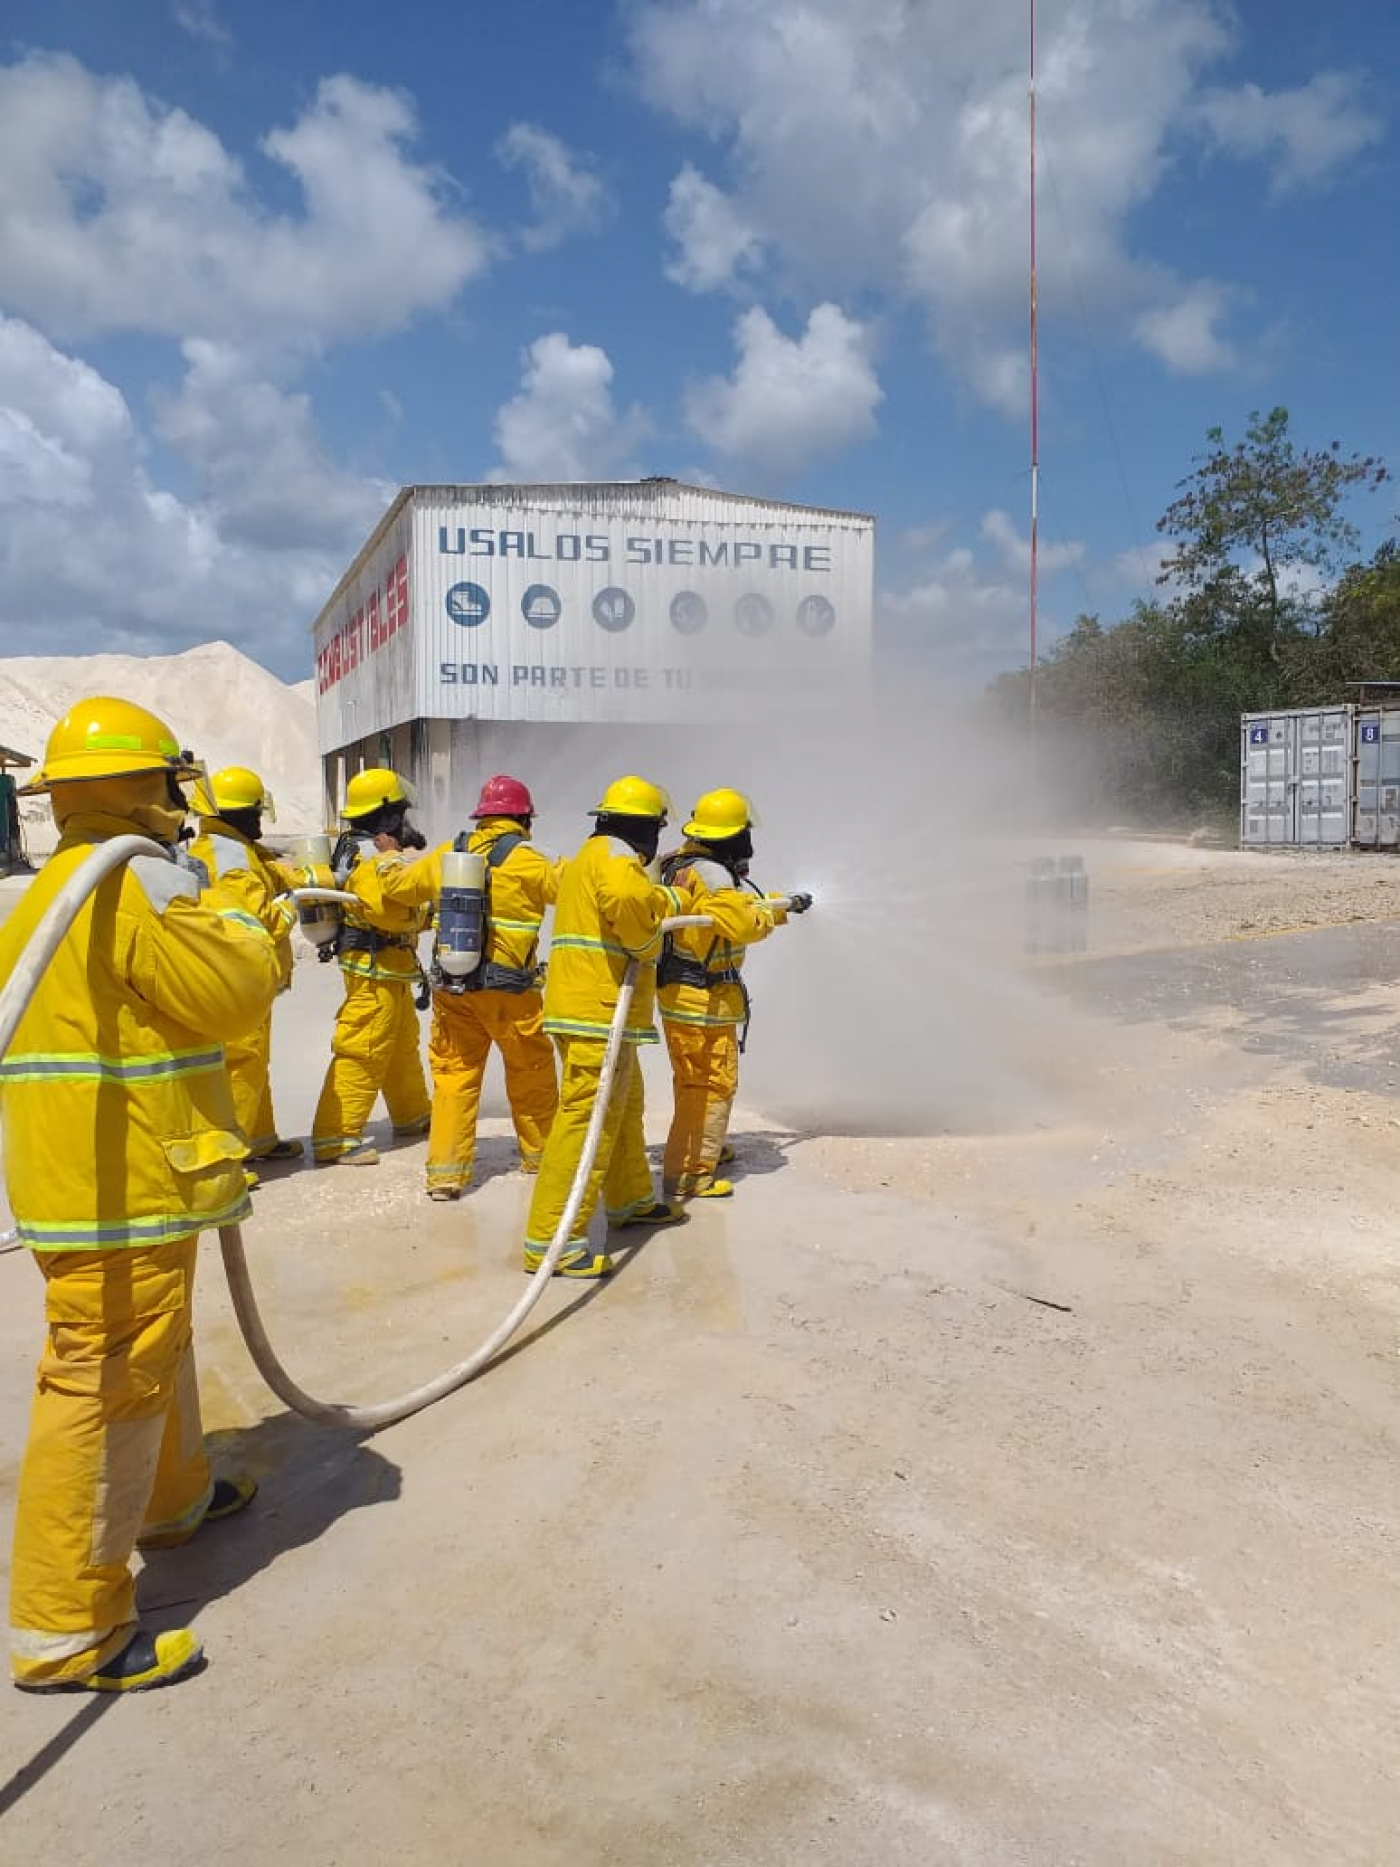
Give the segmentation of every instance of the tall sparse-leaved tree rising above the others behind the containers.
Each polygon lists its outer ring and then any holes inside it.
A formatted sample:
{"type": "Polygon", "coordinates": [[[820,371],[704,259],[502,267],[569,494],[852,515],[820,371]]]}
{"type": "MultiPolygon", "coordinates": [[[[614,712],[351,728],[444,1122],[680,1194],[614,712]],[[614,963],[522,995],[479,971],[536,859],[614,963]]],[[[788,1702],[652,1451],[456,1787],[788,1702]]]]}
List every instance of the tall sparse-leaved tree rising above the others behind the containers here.
{"type": "Polygon", "coordinates": [[[1183,584],[1204,599],[1213,627],[1279,663],[1288,635],[1318,622],[1295,573],[1337,571],[1355,551],[1342,502],[1353,487],[1379,485],[1387,469],[1370,454],[1342,457],[1337,441],[1297,448],[1288,409],[1254,411],[1234,446],[1223,428],[1208,429],[1206,441],[1210,452],[1195,457],[1180,498],[1157,521],[1176,545],[1157,583],[1183,584]]]}

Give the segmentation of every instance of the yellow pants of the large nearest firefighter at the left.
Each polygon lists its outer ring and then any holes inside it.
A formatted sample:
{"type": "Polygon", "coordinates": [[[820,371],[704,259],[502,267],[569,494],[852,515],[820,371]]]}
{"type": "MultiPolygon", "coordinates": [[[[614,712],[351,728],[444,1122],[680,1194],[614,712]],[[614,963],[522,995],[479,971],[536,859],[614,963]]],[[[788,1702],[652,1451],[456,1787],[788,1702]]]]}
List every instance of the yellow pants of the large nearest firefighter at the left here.
{"type": "Polygon", "coordinates": [[[84,1678],[136,1632],[140,1535],[209,1509],[190,1341],[198,1236],[136,1251],[35,1251],[49,1337],[19,1475],[9,1574],[15,1678],[84,1678]]]}

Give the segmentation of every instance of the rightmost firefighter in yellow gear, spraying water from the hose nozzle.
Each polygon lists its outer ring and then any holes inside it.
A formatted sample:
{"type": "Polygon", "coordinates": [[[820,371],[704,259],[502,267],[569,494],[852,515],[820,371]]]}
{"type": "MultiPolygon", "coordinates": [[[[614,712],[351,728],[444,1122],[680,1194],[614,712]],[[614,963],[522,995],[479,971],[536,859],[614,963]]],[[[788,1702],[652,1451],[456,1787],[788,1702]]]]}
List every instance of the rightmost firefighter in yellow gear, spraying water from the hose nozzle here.
{"type": "Polygon", "coordinates": [[[676,928],[657,965],[657,1008],[666,1032],[676,1111],[661,1163],[666,1199],[728,1199],[715,1169],[734,1159],[730,1111],[739,1088],[739,1051],[749,1025],[741,978],[745,948],[767,939],[810,894],[769,904],[747,883],[754,853],[754,812],[743,792],[706,792],[685,825],[685,842],[661,864],[666,881],[694,891],[694,913],[713,926],[676,928]]]}

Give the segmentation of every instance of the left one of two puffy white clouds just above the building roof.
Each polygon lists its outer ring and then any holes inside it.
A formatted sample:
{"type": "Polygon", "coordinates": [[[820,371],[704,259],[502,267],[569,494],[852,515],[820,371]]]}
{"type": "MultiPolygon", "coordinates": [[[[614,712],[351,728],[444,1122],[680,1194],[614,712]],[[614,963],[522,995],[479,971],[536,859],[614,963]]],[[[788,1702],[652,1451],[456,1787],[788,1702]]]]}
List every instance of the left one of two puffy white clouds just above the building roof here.
{"type": "Polygon", "coordinates": [[[635,476],[631,454],[650,424],[640,409],[618,413],[607,351],[551,330],[523,362],[521,394],[497,413],[500,465],[489,478],[523,484],[635,476]]]}

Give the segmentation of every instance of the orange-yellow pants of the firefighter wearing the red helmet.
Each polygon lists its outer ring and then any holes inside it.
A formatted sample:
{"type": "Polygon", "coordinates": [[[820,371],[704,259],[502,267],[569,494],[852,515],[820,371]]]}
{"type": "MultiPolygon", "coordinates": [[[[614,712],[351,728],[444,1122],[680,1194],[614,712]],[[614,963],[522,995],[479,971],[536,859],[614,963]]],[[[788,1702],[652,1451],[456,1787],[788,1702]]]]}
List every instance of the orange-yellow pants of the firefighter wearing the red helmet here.
{"type": "Polygon", "coordinates": [[[482,1079],[495,1044],[506,1070],[521,1165],[538,1169],[558,1107],[554,1047],[545,1036],[538,991],[435,991],[427,1068],[433,1074],[433,1126],[427,1131],[427,1186],[461,1187],[472,1176],[482,1079]]]}

